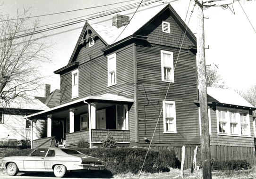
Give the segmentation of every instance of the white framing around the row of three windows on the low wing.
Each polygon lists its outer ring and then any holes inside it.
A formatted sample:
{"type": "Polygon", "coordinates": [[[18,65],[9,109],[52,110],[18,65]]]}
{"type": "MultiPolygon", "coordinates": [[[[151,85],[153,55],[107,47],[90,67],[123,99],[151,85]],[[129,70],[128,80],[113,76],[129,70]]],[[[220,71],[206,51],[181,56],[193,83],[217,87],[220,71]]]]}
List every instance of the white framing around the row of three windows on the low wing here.
{"type": "Polygon", "coordinates": [[[230,109],[227,107],[216,107],[216,121],[217,121],[217,134],[218,135],[225,135],[225,136],[236,136],[236,137],[251,137],[251,129],[250,129],[250,115],[248,110],[244,109],[230,109]],[[226,125],[227,125],[227,132],[220,133],[219,131],[219,111],[226,111],[226,125]],[[238,133],[237,134],[231,134],[230,132],[230,111],[236,113],[236,122],[238,122],[237,128],[238,133]],[[239,113],[247,113],[246,115],[246,121],[247,121],[247,134],[241,134],[241,121],[240,121],[240,114],[239,113]]]}

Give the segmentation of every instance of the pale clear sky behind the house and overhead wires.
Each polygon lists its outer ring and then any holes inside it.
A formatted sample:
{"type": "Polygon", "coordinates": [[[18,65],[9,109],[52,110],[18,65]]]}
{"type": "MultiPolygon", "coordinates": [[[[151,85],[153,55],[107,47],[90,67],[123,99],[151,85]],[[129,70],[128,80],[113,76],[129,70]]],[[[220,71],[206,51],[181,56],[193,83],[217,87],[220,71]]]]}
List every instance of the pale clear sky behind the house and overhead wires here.
{"type": "MultiPolygon", "coordinates": [[[[142,3],[145,1],[147,0],[143,0],[142,3]]],[[[173,0],[162,0],[161,2],[169,1],[173,0]]],[[[76,18],[74,20],[86,19],[91,16],[98,16],[102,11],[107,12],[133,3],[137,3],[138,6],[140,2],[141,0],[2,0],[0,12],[2,15],[16,16],[17,9],[21,11],[23,8],[30,8],[31,16],[39,16],[36,18],[40,20],[40,26],[42,26],[58,24],[62,21],[70,22],[69,19],[73,18],[76,18]],[[41,16],[64,11],[72,12],[41,16]]],[[[155,4],[161,3],[156,2],[155,4]]],[[[194,0],[171,2],[171,6],[183,21],[185,21],[188,13],[185,23],[196,35],[198,24],[196,23],[196,11],[194,10],[192,13],[194,4],[194,0]]],[[[218,66],[218,71],[227,88],[247,89],[256,84],[254,75],[256,72],[256,0],[235,0],[232,5],[227,9],[210,7],[204,10],[205,48],[207,48],[205,49],[205,61],[206,65],[214,63],[218,66]]],[[[131,10],[119,12],[119,14],[135,12],[137,6],[131,10]]],[[[114,15],[95,18],[92,21],[101,22],[114,15]]],[[[131,17],[132,14],[129,16],[131,17]]],[[[84,24],[85,22],[82,22],[46,33],[49,35],[68,31],[45,38],[45,41],[54,44],[51,47],[52,63],[51,65],[43,65],[42,69],[39,70],[42,70],[45,75],[50,75],[45,83],[51,84],[51,91],[60,89],[60,76],[54,74],[53,71],[68,64],[84,24]],[[74,28],[78,29],[70,31],[74,28]]],[[[104,21],[103,24],[111,25],[111,20],[104,21]]]]}

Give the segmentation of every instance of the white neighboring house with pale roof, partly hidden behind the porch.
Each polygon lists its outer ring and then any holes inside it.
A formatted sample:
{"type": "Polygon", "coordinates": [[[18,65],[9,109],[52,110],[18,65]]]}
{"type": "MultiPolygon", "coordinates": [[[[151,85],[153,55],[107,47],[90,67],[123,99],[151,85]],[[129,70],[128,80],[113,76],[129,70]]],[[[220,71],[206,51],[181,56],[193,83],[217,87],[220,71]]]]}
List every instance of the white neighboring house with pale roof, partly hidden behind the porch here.
{"type": "MultiPolygon", "coordinates": [[[[9,101],[8,106],[0,103],[0,141],[3,140],[30,140],[31,122],[24,119],[28,114],[48,109],[38,99],[15,98],[9,101]]],[[[40,138],[41,122],[34,121],[33,139],[40,138]]]]}

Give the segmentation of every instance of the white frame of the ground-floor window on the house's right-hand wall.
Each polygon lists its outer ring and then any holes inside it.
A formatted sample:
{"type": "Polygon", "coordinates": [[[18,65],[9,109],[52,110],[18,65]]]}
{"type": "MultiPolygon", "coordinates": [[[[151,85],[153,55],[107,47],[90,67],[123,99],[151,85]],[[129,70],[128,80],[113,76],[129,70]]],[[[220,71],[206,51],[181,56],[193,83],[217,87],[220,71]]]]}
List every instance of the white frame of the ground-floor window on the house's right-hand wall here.
{"type": "Polygon", "coordinates": [[[177,126],[176,126],[176,105],[175,105],[175,101],[162,101],[162,108],[163,108],[163,132],[164,133],[177,133],[177,126]],[[165,105],[166,104],[170,104],[172,105],[172,123],[173,123],[173,130],[166,130],[166,116],[165,116],[165,105]]]}

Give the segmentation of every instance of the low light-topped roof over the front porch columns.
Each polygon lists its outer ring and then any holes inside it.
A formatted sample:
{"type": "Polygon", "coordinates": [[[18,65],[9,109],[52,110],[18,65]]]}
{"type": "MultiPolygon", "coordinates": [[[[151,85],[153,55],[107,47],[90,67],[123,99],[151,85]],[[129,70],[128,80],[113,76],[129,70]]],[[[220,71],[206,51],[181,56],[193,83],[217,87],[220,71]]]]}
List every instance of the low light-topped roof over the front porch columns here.
{"type": "Polygon", "coordinates": [[[85,98],[80,98],[77,99],[75,101],[71,101],[69,103],[60,105],[60,106],[56,106],[38,113],[34,113],[34,114],[30,114],[25,116],[24,118],[27,119],[38,119],[40,117],[46,116],[48,114],[60,111],[60,110],[65,110],[68,108],[72,108],[74,106],[79,106],[79,105],[83,105],[86,103],[90,103],[90,102],[125,102],[125,103],[133,103],[134,100],[130,99],[130,98],[125,98],[123,96],[119,96],[119,95],[114,95],[114,94],[110,94],[110,93],[106,93],[103,95],[99,95],[99,96],[91,96],[91,97],[85,97],[85,98]]]}

